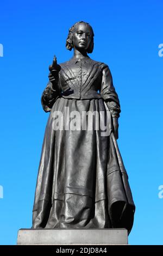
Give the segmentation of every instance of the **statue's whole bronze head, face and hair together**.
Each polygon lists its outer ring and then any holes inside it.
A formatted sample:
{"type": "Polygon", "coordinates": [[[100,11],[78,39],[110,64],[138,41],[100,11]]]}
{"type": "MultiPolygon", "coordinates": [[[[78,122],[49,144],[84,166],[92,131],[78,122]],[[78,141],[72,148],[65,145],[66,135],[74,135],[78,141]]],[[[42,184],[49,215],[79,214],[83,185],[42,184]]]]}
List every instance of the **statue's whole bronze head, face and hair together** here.
{"type": "Polygon", "coordinates": [[[94,46],[93,36],[93,29],[89,23],[79,21],[69,29],[66,48],[70,51],[72,48],[77,48],[78,50],[84,50],[87,53],[92,53],[94,46]]]}

